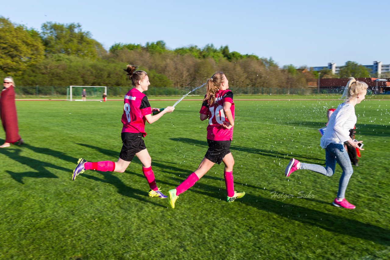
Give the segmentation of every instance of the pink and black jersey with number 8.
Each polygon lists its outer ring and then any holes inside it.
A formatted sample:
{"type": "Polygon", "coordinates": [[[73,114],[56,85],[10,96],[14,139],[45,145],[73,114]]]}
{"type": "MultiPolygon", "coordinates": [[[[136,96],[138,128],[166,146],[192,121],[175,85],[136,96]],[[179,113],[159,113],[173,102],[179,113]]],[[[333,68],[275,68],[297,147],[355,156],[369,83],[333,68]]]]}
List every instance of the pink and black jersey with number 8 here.
{"type": "Polygon", "coordinates": [[[124,96],[122,133],[142,133],[142,136],[145,137],[145,115],[151,113],[152,109],[147,96],[137,88],[129,90],[124,96]]]}

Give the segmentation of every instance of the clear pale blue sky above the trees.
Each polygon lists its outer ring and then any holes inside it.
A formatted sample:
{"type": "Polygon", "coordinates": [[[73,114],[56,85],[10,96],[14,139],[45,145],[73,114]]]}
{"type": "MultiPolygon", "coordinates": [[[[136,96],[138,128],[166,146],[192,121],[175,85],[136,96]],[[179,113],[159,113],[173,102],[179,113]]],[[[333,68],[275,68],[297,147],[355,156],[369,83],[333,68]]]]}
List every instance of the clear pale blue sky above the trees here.
{"type": "Polygon", "coordinates": [[[206,44],[272,57],[278,65],[390,64],[390,1],[4,1],[0,15],[40,30],[80,23],[108,49],[115,42],[206,44]]]}

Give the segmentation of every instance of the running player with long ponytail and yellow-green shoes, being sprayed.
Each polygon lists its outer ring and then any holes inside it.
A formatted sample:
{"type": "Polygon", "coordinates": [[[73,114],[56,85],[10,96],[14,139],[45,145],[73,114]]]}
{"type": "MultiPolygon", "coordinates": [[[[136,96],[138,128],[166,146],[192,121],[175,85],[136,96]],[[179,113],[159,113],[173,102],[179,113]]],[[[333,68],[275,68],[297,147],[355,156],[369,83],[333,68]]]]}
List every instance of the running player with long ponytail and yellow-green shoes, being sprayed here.
{"type": "Polygon", "coordinates": [[[169,203],[172,208],[175,208],[175,202],[179,198],[179,194],[192,187],[215,163],[223,162],[225,164],[224,177],[227,202],[233,202],[236,198],[242,198],[245,195],[245,192],[234,191],[234,158],[229,150],[233,137],[234,103],[233,92],[228,90],[229,81],[225,74],[217,72],[207,80],[206,88],[206,96],[199,113],[200,120],[209,119],[207,125],[209,149],[202,162],[200,162],[198,169],[191,173],[176,189],[169,191],[169,203]]]}

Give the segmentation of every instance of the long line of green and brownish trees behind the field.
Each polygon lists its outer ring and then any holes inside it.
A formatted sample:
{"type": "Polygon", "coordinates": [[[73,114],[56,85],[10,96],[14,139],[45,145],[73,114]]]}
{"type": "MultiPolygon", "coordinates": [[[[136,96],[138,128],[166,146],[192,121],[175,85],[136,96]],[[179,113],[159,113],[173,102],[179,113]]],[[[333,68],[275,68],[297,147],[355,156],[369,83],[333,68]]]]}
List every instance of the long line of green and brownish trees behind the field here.
{"type": "MultiPolygon", "coordinates": [[[[279,67],[272,58],[207,44],[170,50],[164,41],[144,46],[115,43],[107,51],[79,23],[46,22],[38,31],[0,16],[0,76],[23,86],[129,86],[123,68],[139,65],[151,87],[195,87],[223,71],[232,87],[303,88],[316,82],[308,67],[279,67]]],[[[347,62],[339,75],[324,69],[321,78],[369,77],[367,69],[347,62]]]]}

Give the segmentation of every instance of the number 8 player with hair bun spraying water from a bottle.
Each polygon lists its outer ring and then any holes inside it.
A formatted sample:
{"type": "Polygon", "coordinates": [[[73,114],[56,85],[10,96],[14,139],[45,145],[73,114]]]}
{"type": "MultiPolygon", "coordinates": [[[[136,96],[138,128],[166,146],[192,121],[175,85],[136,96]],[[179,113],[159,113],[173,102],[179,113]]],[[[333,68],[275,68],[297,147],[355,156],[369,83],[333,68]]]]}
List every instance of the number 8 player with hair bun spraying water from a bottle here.
{"type": "Polygon", "coordinates": [[[142,172],[149,183],[149,196],[158,198],[167,198],[156,185],[154,173],[152,171],[152,158],[150,157],[144,140],[146,136],[145,122],[149,124],[156,122],[165,113],[174,111],[173,106],[168,106],[157,115],[152,115],[153,111],[160,111],[158,108],[151,108],[147,96],[142,92],[148,89],[149,77],[145,71],[137,71],[138,67],[127,65],[124,69],[129,76],[134,88],[129,90],[124,96],[124,106],[122,115],[122,150],[119,159],[115,163],[112,161],[100,161],[90,163],[83,158],[78,160],[78,164],[73,171],[72,179],[85,170],[97,170],[101,172],[124,172],[129,166],[134,156],[137,156],[142,163],[142,172]]]}

